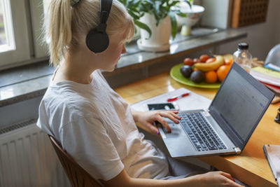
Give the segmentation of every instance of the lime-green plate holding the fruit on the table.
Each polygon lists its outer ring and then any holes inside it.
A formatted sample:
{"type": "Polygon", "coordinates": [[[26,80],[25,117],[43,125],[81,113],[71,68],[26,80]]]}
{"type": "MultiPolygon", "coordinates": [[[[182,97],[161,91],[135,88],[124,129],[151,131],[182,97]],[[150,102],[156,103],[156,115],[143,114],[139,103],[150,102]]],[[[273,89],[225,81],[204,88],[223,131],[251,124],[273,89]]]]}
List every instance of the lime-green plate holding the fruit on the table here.
{"type": "Polygon", "coordinates": [[[177,64],[174,67],[172,67],[171,71],[170,71],[170,76],[177,82],[182,83],[184,85],[190,85],[193,87],[197,87],[197,88],[219,88],[221,83],[217,82],[217,83],[194,83],[193,81],[190,81],[190,78],[186,78],[184,77],[181,72],[180,72],[180,68],[183,66],[184,64],[177,64]]]}

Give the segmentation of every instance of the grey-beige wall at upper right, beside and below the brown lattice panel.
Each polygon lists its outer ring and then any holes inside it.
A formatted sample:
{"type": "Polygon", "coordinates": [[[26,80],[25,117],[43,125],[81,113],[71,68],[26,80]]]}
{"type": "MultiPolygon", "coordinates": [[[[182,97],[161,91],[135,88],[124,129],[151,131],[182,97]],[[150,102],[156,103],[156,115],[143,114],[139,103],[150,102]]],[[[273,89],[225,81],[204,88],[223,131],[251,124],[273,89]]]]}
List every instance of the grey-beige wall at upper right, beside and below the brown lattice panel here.
{"type": "Polygon", "coordinates": [[[265,60],[269,50],[277,43],[280,43],[280,1],[270,0],[267,21],[258,25],[241,27],[242,31],[248,33],[247,39],[225,43],[219,47],[219,52],[234,53],[237,50],[237,43],[245,41],[249,43],[249,51],[253,57],[265,60]]]}

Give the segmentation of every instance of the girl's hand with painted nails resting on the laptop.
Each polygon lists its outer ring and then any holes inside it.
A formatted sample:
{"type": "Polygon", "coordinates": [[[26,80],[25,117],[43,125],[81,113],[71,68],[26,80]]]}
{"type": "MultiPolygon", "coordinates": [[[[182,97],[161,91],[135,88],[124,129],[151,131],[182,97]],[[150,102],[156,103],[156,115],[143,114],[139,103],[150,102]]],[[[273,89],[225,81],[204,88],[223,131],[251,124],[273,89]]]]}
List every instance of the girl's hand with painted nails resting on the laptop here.
{"type": "Polygon", "coordinates": [[[155,121],[161,123],[169,132],[171,132],[168,123],[163,117],[169,118],[174,121],[174,123],[178,124],[181,117],[176,113],[178,113],[178,111],[132,111],[134,121],[148,127],[148,129],[155,134],[160,134],[158,128],[154,125],[155,121]]]}

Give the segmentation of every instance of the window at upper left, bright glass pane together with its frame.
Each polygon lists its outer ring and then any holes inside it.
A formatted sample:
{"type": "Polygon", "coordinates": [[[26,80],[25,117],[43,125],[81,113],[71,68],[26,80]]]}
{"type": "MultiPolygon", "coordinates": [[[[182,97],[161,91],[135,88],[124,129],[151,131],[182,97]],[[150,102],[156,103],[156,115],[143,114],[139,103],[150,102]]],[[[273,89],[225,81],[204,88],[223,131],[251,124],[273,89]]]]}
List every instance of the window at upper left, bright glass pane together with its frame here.
{"type": "Polygon", "coordinates": [[[47,58],[42,16],[43,0],[0,0],[0,69],[47,58]]]}

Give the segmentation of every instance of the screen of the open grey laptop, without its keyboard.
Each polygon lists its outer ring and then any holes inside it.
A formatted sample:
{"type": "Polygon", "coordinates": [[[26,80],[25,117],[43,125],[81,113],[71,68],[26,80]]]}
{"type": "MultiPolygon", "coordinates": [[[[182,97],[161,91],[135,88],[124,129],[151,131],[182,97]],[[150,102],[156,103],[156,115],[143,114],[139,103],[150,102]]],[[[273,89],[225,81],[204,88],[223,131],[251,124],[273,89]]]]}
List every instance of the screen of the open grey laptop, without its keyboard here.
{"type": "Polygon", "coordinates": [[[270,101],[232,68],[211,106],[246,141],[270,101]]]}

